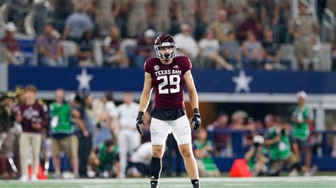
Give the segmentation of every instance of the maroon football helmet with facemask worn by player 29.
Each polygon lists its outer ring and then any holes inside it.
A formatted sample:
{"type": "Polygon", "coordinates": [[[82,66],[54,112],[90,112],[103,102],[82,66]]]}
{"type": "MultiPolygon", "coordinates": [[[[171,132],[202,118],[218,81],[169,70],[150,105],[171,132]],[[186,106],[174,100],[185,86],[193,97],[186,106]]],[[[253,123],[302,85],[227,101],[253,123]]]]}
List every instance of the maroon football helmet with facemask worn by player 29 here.
{"type": "Polygon", "coordinates": [[[157,58],[159,59],[169,60],[177,56],[177,42],[174,37],[169,34],[159,35],[159,37],[155,40],[154,49],[157,53],[157,58]],[[161,54],[159,52],[160,47],[173,47],[173,51],[169,54],[161,54]]]}

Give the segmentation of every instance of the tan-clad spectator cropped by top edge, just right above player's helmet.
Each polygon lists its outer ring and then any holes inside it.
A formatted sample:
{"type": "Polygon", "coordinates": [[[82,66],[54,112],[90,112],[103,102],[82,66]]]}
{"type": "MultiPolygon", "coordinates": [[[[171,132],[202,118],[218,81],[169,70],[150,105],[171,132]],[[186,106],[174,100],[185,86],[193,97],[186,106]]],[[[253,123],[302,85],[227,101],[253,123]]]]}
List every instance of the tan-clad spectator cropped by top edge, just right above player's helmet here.
{"type": "MultiPolygon", "coordinates": [[[[188,24],[190,30],[189,35],[194,36],[196,28],[196,11],[197,11],[196,1],[194,0],[174,0],[174,1],[177,2],[176,11],[179,24],[180,25],[188,24]]],[[[181,30],[183,30],[183,28],[181,28],[181,30]]]]}

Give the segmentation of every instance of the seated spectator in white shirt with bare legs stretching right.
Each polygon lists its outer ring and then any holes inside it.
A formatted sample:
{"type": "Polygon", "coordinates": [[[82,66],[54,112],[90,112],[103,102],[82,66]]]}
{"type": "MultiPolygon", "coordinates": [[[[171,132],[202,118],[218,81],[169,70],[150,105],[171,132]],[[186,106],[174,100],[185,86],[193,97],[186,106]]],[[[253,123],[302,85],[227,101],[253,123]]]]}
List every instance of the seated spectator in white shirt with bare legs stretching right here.
{"type": "Polygon", "coordinates": [[[218,53],[220,45],[217,39],[214,38],[213,30],[207,30],[205,37],[198,42],[201,57],[215,61],[215,69],[233,70],[233,66],[218,53]]]}

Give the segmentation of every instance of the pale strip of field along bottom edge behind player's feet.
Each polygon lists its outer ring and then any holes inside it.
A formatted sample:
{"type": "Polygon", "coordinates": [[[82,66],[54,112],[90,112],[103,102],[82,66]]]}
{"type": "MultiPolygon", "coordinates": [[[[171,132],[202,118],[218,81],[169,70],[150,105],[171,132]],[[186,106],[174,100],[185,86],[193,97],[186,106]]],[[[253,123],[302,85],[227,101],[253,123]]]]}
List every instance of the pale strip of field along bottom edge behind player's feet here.
{"type": "MultiPolygon", "coordinates": [[[[150,187],[147,178],[141,179],[77,179],[43,180],[40,182],[0,181],[0,187],[150,187]]],[[[162,178],[160,188],[192,187],[188,178],[162,178]]],[[[336,176],[316,177],[251,177],[251,178],[201,178],[201,187],[336,187],[336,176]]]]}

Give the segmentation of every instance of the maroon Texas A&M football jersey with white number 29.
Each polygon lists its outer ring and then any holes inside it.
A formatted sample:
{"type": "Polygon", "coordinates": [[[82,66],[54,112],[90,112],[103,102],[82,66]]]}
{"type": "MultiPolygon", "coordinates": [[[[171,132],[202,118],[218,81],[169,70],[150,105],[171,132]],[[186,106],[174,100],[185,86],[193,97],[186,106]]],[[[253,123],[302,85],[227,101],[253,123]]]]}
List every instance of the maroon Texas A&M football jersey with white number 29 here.
{"type": "Polygon", "coordinates": [[[174,57],[171,64],[150,57],[145,61],[145,71],[152,76],[155,90],[155,107],[176,109],[184,107],[184,73],[191,69],[188,57],[174,57]]]}

